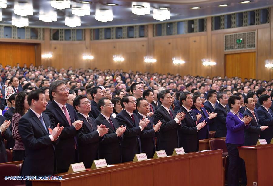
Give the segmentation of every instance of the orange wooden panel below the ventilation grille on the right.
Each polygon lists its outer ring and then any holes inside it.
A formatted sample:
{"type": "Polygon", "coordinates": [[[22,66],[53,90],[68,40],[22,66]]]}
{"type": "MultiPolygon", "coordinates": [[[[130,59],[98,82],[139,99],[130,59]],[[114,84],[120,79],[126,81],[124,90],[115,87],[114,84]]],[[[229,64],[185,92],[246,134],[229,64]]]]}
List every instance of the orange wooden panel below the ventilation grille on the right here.
{"type": "Polygon", "coordinates": [[[241,77],[255,78],[256,77],[256,53],[238,53],[238,54],[226,54],[226,76],[228,77],[241,77]]]}

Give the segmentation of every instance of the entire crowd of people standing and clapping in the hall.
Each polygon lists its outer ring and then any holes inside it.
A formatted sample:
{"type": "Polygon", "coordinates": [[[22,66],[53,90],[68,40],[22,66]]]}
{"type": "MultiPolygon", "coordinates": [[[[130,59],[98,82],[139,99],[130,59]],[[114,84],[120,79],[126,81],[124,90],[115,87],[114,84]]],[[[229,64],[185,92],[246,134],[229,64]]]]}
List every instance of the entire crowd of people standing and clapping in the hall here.
{"type": "Polygon", "coordinates": [[[24,160],[22,175],[67,172],[76,162],[89,168],[102,158],[133,161],[142,152],[152,158],[156,150],[171,155],[178,147],[196,152],[198,140],[216,131],[227,138],[229,177],[237,182],[236,147],[273,137],[273,79],[0,68],[0,163],[13,148],[13,161],[24,160]]]}

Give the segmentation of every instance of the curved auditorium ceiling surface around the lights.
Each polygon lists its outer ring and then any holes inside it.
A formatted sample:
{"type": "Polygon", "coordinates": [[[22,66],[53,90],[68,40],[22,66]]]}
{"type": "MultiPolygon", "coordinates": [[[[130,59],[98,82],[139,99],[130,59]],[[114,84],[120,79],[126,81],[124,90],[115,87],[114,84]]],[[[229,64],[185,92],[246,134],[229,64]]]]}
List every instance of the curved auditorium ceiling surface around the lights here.
{"type": "MultiPolygon", "coordinates": [[[[0,0],[0,3],[3,0],[0,0]]],[[[265,8],[273,6],[272,0],[252,0],[250,3],[241,3],[240,0],[86,0],[90,3],[81,3],[80,0],[71,0],[70,8],[59,10],[51,6],[50,0],[7,0],[7,8],[1,8],[2,21],[0,25],[11,25],[14,17],[14,6],[16,3],[30,3],[33,6],[33,15],[26,15],[29,26],[32,27],[50,27],[50,28],[69,28],[65,25],[65,17],[74,16],[73,7],[81,7],[83,4],[90,7],[90,15],[80,17],[81,26],[76,28],[98,28],[117,25],[138,25],[148,23],[160,23],[161,21],[153,19],[153,9],[166,7],[170,10],[170,19],[165,20],[172,22],[183,19],[195,19],[210,15],[221,15],[234,12],[242,12],[251,9],[265,8]],[[150,14],[136,15],[131,12],[132,5],[142,5],[148,3],[150,14]],[[109,6],[107,3],[116,4],[109,6]],[[219,5],[227,4],[225,7],[219,5]],[[199,9],[191,9],[199,7],[199,9]],[[101,22],[95,19],[97,9],[109,9],[113,12],[113,20],[101,22]],[[39,15],[43,12],[54,12],[57,15],[57,21],[43,22],[39,20],[39,15]]],[[[146,4],[147,5],[147,4],[146,4]]],[[[0,14],[1,14],[0,12],[0,14]]]]}

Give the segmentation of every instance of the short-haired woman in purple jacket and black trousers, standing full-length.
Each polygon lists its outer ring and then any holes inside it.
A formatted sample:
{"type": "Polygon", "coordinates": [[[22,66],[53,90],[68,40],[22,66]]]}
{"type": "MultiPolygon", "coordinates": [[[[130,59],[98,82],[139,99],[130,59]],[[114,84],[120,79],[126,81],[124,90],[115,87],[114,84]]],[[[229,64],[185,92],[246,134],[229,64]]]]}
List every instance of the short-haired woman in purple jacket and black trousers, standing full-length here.
{"type": "Polygon", "coordinates": [[[252,117],[245,116],[239,113],[241,107],[239,96],[230,96],[228,99],[228,106],[231,108],[226,117],[227,137],[226,145],[229,157],[228,166],[228,185],[239,184],[239,170],[241,168],[242,184],[247,184],[246,171],[244,160],[239,157],[237,147],[244,145],[244,129],[249,127],[249,122],[252,117]]]}

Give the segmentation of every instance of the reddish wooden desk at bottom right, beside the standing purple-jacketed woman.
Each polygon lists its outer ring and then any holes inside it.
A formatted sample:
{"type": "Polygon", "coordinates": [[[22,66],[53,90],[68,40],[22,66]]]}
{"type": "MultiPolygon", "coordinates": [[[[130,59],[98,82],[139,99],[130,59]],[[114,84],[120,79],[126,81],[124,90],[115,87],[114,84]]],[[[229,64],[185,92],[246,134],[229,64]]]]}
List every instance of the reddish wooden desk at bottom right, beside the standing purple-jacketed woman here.
{"type": "Polygon", "coordinates": [[[248,185],[273,185],[273,144],[238,147],[245,161],[248,185]]]}

